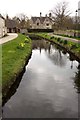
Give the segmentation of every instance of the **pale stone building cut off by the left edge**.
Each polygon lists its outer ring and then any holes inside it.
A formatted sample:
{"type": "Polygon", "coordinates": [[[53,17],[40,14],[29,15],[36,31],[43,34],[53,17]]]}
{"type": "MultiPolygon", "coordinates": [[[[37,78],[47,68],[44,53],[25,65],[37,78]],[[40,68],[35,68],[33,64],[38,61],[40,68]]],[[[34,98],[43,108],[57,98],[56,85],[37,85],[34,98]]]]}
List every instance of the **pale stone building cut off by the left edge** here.
{"type": "Polygon", "coordinates": [[[7,34],[7,28],[5,26],[5,18],[0,14],[0,38],[7,34]]]}

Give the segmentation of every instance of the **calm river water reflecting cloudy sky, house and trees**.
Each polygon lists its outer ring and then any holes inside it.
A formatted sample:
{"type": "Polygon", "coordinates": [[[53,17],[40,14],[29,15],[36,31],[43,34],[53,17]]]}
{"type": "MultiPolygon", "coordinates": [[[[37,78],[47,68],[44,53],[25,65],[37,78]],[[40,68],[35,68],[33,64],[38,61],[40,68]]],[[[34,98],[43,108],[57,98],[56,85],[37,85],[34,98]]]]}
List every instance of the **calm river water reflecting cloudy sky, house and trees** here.
{"type": "Polygon", "coordinates": [[[78,118],[80,69],[74,57],[45,40],[33,40],[32,56],[3,118],[78,118]]]}

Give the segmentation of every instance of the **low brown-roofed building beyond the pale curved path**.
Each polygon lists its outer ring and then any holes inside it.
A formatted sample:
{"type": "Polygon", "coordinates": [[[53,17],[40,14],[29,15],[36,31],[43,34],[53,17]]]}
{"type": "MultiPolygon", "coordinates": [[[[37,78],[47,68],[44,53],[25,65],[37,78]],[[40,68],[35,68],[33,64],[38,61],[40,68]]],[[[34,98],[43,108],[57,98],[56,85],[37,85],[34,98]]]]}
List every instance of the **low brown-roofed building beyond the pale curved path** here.
{"type": "Polygon", "coordinates": [[[18,28],[16,21],[8,18],[8,16],[6,18],[6,27],[8,33],[20,32],[20,29],[18,28]]]}

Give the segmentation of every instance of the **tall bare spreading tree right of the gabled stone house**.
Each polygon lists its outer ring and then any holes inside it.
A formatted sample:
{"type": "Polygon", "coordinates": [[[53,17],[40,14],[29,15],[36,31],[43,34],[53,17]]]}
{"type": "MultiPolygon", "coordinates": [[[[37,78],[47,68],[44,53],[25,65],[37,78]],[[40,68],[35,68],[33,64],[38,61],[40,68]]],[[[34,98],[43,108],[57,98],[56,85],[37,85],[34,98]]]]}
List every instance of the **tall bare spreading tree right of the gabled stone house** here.
{"type": "Polygon", "coordinates": [[[53,15],[55,25],[59,29],[64,28],[64,24],[66,24],[65,22],[69,20],[69,15],[71,14],[70,10],[68,10],[67,2],[57,3],[55,9],[51,10],[51,13],[53,15]]]}

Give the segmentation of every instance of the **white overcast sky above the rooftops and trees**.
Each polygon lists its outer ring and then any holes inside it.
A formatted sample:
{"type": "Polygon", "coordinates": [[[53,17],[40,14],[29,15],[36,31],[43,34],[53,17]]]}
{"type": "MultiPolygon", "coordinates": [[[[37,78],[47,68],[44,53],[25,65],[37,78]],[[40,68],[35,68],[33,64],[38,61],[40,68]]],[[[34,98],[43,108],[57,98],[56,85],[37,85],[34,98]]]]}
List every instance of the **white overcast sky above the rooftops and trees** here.
{"type": "Polygon", "coordinates": [[[0,13],[2,15],[8,14],[10,17],[19,13],[25,13],[29,17],[39,16],[40,12],[45,15],[62,1],[69,3],[68,7],[72,15],[75,15],[79,0],[0,0],[0,13]]]}

